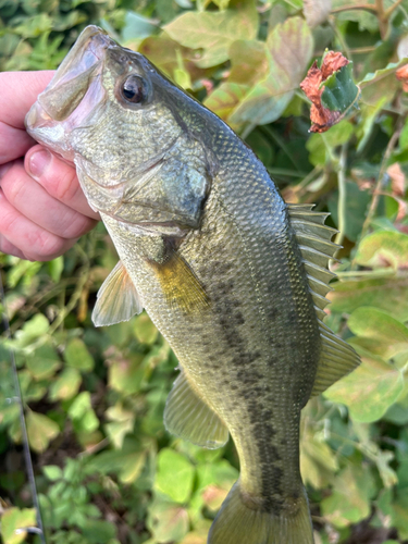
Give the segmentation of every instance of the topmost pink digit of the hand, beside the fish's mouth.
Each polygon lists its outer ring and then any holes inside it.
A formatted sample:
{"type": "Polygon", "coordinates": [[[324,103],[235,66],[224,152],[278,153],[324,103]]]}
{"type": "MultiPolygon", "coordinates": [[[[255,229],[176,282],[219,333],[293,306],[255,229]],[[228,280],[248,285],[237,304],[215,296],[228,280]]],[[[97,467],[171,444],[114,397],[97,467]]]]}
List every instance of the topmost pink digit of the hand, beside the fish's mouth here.
{"type": "Polygon", "coordinates": [[[26,113],[53,74],[52,70],[0,73],[0,122],[24,129],[26,113]]]}

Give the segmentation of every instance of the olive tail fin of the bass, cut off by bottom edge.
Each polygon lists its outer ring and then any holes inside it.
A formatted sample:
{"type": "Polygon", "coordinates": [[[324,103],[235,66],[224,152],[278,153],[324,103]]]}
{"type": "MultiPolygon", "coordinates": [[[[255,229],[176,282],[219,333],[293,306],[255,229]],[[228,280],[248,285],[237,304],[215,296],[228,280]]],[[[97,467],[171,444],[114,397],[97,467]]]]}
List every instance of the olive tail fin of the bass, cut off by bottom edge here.
{"type": "Polygon", "coordinates": [[[211,526],[207,544],[313,544],[305,487],[294,514],[274,516],[248,508],[235,483],[211,526]]]}

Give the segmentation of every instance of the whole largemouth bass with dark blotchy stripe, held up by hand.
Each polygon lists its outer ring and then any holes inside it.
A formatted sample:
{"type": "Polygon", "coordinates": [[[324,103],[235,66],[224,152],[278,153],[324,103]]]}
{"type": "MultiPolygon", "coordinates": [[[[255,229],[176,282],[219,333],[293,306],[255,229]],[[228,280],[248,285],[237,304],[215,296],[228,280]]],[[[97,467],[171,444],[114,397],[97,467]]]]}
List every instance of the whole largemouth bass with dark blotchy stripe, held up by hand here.
{"type": "Polygon", "coordinates": [[[327,213],[285,203],[227,124],[96,26],[26,127],[75,164],[118,250],[95,324],[146,309],[180,361],[166,430],[235,443],[239,479],[208,544],[312,544],[300,411],[360,362],[323,323],[338,249],[327,213]]]}

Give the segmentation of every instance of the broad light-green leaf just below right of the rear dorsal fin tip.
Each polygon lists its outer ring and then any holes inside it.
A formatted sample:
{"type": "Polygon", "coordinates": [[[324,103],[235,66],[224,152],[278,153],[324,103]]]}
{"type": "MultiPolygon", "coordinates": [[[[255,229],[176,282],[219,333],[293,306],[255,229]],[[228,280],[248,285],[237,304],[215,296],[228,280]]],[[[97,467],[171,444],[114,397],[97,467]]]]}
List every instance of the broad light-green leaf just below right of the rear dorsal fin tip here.
{"type": "Polygon", "coordinates": [[[329,387],[324,396],[345,404],[355,421],[369,423],[381,419],[403,390],[404,378],[398,369],[379,357],[366,355],[361,364],[329,387]]]}

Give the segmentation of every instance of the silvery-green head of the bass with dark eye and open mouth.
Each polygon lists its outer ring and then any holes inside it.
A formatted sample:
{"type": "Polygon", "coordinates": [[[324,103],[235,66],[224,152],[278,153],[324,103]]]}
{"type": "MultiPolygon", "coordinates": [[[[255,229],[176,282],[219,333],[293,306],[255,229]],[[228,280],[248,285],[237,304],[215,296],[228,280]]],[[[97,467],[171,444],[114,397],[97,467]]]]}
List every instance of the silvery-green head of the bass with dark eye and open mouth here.
{"type": "Polygon", "coordinates": [[[194,140],[185,118],[197,106],[143,54],[88,26],[27,113],[26,126],[75,163],[95,210],[128,224],[183,230],[197,227],[209,189],[203,146],[191,151],[197,164],[189,168],[188,146],[183,158],[181,145],[194,140]]]}

